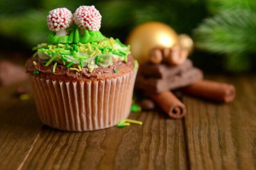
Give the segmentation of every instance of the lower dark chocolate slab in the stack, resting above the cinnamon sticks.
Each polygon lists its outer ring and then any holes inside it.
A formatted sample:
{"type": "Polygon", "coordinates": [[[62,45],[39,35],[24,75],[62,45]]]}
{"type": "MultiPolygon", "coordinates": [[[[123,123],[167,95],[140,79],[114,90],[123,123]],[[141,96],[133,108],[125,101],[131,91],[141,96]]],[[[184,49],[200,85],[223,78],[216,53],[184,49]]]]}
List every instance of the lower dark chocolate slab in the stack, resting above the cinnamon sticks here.
{"type": "Polygon", "coordinates": [[[145,78],[142,75],[138,75],[136,78],[135,87],[142,89],[146,92],[161,93],[166,90],[177,89],[191,85],[195,81],[202,80],[202,71],[198,68],[193,68],[182,74],[176,74],[168,78],[145,78]]]}

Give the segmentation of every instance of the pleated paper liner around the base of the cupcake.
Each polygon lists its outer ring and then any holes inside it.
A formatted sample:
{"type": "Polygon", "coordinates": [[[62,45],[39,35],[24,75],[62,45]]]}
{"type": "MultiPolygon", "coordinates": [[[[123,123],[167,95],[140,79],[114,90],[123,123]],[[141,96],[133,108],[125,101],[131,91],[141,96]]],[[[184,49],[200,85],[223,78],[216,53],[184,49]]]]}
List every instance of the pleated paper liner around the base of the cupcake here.
{"type": "Polygon", "coordinates": [[[58,82],[29,75],[43,124],[65,131],[115,126],[130,114],[137,70],[105,81],[58,82]]]}

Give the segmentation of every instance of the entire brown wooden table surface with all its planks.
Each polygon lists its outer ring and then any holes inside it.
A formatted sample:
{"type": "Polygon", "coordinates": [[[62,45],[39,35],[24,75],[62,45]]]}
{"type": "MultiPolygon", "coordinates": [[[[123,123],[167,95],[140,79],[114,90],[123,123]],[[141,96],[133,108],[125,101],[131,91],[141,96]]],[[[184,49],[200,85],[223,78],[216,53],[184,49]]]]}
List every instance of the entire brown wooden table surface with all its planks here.
{"type": "Polygon", "coordinates": [[[18,84],[0,87],[0,170],[255,170],[256,76],[207,79],[234,84],[234,102],[184,96],[182,120],[158,109],[130,114],[143,126],[82,133],[44,126],[18,84]]]}

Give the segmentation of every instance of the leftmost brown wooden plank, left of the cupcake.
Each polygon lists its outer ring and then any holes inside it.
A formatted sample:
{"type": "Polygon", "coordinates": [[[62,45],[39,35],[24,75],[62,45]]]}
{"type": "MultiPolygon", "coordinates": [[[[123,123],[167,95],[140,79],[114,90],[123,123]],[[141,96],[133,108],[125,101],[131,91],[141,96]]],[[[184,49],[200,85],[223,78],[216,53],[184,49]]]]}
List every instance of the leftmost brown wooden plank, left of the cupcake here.
{"type": "Polygon", "coordinates": [[[43,124],[33,99],[21,101],[13,95],[20,83],[0,88],[0,170],[16,170],[25,161],[43,124]]]}

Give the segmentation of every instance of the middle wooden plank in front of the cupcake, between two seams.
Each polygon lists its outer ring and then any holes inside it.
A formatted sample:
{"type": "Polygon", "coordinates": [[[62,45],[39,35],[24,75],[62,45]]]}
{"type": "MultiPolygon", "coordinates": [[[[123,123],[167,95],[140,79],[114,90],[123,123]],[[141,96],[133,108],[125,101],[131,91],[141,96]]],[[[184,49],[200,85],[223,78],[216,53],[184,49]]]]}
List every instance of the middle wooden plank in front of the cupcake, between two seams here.
{"type": "Polygon", "coordinates": [[[131,113],[143,126],[70,133],[44,126],[22,170],[188,169],[182,120],[131,113]]]}

